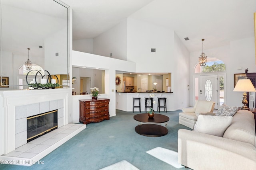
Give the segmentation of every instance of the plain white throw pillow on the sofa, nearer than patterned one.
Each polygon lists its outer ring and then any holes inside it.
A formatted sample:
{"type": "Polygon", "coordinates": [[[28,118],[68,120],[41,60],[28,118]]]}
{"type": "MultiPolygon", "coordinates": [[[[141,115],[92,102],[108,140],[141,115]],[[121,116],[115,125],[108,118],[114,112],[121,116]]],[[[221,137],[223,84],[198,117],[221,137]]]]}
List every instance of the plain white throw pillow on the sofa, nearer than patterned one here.
{"type": "Polygon", "coordinates": [[[198,115],[193,131],[222,137],[232,119],[232,116],[198,115]]]}

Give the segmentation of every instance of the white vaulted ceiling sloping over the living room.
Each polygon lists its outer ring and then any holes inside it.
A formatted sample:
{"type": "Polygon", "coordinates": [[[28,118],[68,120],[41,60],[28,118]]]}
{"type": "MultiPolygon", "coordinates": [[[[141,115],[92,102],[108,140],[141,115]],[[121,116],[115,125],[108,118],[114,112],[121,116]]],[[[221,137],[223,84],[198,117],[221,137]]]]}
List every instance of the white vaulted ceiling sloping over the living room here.
{"type": "Polygon", "coordinates": [[[73,9],[73,39],[94,38],[127,17],[174,30],[192,51],[254,36],[256,0],[62,0],[73,9]],[[188,37],[190,40],[185,41],[188,37]]]}

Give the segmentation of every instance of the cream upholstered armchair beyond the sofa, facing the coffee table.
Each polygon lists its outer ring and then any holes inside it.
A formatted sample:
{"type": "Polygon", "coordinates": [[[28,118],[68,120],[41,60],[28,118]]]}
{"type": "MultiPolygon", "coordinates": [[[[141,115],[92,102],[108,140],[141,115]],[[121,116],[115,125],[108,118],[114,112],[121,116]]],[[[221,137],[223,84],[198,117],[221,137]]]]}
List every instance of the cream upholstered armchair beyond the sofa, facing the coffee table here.
{"type": "Polygon", "coordinates": [[[197,100],[194,107],[182,109],[182,112],[179,114],[179,123],[194,129],[198,115],[213,112],[214,105],[215,102],[212,101],[197,100]]]}

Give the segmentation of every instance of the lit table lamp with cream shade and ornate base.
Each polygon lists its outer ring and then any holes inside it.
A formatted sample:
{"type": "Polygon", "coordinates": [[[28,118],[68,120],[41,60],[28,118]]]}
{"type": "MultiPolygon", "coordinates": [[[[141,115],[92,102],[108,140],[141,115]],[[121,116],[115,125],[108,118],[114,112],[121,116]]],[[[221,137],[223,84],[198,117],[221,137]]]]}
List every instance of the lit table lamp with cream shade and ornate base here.
{"type": "Polygon", "coordinates": [[[252,85],[252,82],[250,79],[240,79],[238,80],[233,92],[244,92],[243,94],[243,100],[242,100],[242,104],[244,104],[243,107],[241,107],[241,109],[249,109],[246,104],[248,104],[248,101],[246,100],[247,96],[246,96],[246,92],[256,92],[254,86],[252,85]]]}

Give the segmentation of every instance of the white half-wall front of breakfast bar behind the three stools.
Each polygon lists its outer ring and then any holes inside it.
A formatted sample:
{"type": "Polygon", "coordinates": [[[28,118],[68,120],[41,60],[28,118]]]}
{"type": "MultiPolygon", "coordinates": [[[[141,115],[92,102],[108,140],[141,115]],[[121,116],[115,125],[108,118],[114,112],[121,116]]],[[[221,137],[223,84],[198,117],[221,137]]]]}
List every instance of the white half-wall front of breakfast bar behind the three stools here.
{"type": "MultiPolygon", "coordinates": [[[[132,98],[141,98],[140,107],[141,112],[144,112],[145,108],[145,99],[149,98],[150,94],[154,94],[153,101],[158,102],[157,98],[166,98],[167,111],[173,111],[174,106],[174,95],[173,93],[168,92],[116,92],[116,109],[123,111],[132,111],[133,99],[132,98]]],[[[138,101],[135,102],[135,105],[138,105],[138,101]]],[[[163,103],[161,102],[161,106],[163,103]]],[[[154,110],[157,111],[157,104],[154,104],[154,110]]],[[[163,108],[161,108],[161,111],[163,108]]],[[[134,111],[139,111],[139,108],[134,108],[134,111]]],[[[158,113],[158,112],[157,112],[158,113]]]]}

